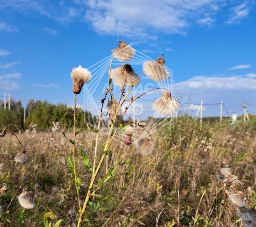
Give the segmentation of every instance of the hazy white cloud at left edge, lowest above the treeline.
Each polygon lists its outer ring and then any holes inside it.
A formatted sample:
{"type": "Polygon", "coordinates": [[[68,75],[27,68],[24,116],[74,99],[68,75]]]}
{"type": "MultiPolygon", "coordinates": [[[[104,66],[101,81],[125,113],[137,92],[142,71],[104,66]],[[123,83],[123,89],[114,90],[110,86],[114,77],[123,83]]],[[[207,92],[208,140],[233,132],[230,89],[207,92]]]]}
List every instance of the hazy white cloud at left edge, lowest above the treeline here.
{"type": "Polygon", "coordinates": [[[5,75],[0,75],[0,89],[1,90],[17,90],[20,85],[18,79],[20,79],[20,73],[10,73],[5,75]]]}

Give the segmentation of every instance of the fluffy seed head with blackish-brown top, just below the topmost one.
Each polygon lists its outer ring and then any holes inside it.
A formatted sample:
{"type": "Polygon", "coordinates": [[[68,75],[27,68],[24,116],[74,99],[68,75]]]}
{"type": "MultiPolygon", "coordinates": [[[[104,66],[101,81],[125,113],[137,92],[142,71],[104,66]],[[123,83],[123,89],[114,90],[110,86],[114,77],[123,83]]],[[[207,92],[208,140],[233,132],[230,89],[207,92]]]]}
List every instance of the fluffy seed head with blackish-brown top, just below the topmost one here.
{"type": "Polygon", "coordinates": [[[124,64],[118,68],[111,70],[111,78],[116,86],[130,87],[132,83],[135,83],[138,79],[138,75],[133,71],[133,68],[129,64],[124,64]]]}

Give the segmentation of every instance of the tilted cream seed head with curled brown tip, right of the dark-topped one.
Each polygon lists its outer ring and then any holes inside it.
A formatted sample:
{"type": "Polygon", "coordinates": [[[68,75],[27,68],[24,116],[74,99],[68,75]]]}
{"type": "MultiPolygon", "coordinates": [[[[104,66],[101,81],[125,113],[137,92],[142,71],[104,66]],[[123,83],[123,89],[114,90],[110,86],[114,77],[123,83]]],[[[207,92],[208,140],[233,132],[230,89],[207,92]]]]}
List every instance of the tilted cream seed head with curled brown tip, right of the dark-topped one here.
{"type": "Polygon", "coordinates": [[[170,78],[170,74],[164,66],[164,55],[162,57],[161,55],[155,61],[144,61],[143,63],[144,73],[154,81],[164,81],[170,78]]]}

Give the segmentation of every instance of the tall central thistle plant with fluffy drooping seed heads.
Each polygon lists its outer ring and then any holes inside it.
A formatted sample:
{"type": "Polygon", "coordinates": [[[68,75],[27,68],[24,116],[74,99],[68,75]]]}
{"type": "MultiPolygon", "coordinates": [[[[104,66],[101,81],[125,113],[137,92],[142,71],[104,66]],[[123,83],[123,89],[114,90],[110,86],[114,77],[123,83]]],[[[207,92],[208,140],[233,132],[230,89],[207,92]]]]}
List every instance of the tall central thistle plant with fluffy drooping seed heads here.
{"type": "Polygon", "coordinates": [[[112,177],[120,175],[117,174],[117,170],[119,167],[126,165],[130,162],[130,159],[126,159],[124,161],[124,158],[129,147],[133,143],[139,154],[151,155],[153,153],[154,142],[149,131],[139,123],[128,122],[124,120],[124,116],[130,105],[138,100],[141,96],[148,94],[153,90],[162,89],[164,90],[164,93],[162,94],[161,98],[156,100],[155,103],[152,105],[153,110],[155,110],[160,115],[172,116],[180,107],[178,102],[174,98],[172,98],[171,93],[166,88],[157,87],[150,89],[137,97],[130,96],[132,89],[140,82],[140,78],[143,74],[146,74],[154,81],[164,81],[170,78],[170,74],[164,65],[165,60],[163,54],[160,55],[160,57],[156,61],[144,62],[143,72],[140,75],[138,75],[134,71],[132,66],[128,63],[112,69],[113,58],[116,58],[119,61],[128,62],[132,60],[135,52],[136,51],[131,46],[127,45],[124,41],[119,41],[115,48],[112,50],[112,58],[108,71],[108,89],[106,89],[105,96],[101,100],[101,110],[99,113],[97,126],[91,127],[89,126],[89,124],[87,124],[87,129],[91,133],[96,134],[94,156],[91,158],[85,153],[84,150],[77,151],[76,146],[76,135],[78,135],[83,129],[79,129],[79,125],[76,120],[76,95],[81,92],[82,86],[91,79],[91,73],[87,69],[82,68],[81,66],[79,66],[78,68],[74,68],[71,71],[71,78],[73,80],[73,93],[75,94],[73,130],[74,137],[73,139],[69,139],[66,137],[64,132],[63,135],[68,140],[68,142],[72,144],[73,148],[72,154],[66,155],[66,159],[70,169],[74,173],[74,184],[76,188],[76,196],[79,207],[79,218],[77,223],[78,227],[82,225],[84,214],[86,212],[86,208],[91,196],[103,197],[103,195],[98,194],[98,190],[112,177]],[[119,47],[117,48],[118,44],[119,47]],[[120,88],[120,95],[118,95],[117,97],[114,97],[113,85],[120,88]],[[106,99],[107,104],[105,104],[106,99]],[[108,109],[107,114],[103,113],[104,104],[107,106],[108,109]],[[124,106],[124,111],[121,111],[122,107],[124,106]],[[102,127],[104,127],[104,124],[102,123],[102,117],[106,115],[109,116],[108,124],[110,124],[110,127],[105,142],[103,142],[103,144],[99,146],[98,140],[100,136],[103,136],[101,132],[102,127]],[[145,129],[145,131],[148,133],[148,137],[142,137],[137,139],[135,142],[132,142],[132,135],[134,133],[134,128],[132,126],[134,125],[145,129]],[[117,134],[121,131],[124,131],[127,135],[126,139],[124,140],[124,144],[127,146],[127,148],[121,153],[120,156],[117,157],[116,162],[114,162],[114,160],[112,159],[113,151],[111,150],[111,144],[113,143],[114,138],[117,136],[117,134]],[[103,148],[103,152],[99,151],[100,148],[103,148]],[[100,172],[102,164],[105,161],[107,155],[109,155],[111,158],[111,168],[107,171],[105,179],[101,179],[98,177],[98,173],[100,172]],[[89,186],[87,186],[87,193],[85,195],[80,194],[80,189],[82,186],[84,186],[77,171],[77,165],[80,159],[82,160],[84,167],[91,172],[90,184],[89,186]],[[83,201],[83,204],[81,201],[83,201]]]}

